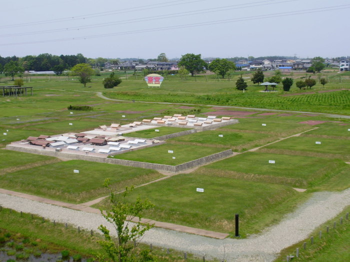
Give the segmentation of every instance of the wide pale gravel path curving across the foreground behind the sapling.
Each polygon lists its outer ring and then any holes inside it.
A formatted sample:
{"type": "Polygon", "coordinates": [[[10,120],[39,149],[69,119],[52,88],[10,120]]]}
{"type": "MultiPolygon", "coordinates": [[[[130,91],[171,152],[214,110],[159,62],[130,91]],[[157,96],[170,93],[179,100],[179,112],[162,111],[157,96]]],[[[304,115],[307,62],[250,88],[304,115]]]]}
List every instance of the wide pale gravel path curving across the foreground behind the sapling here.
{"type": "MultiPolygon", "coordinates": [[[[100,215],[4,194],[0,194],[0,205],[43,216],[52,221],[80,226],[86,230],[96,231],[100,224],[106,225],[100,215]]],[[[273,261],[282,249],[306,239],[317,226],[334,218],[348,205],[350,205],[350,189],[342,192],[318,192],[296,211],[288,214],[282,222],[248,239],[216,240],[153,228],[145,234],[142,242],[227,261],[273,261]]],[[[112,230],[110,225],[106,226],[112,230]]]]}

